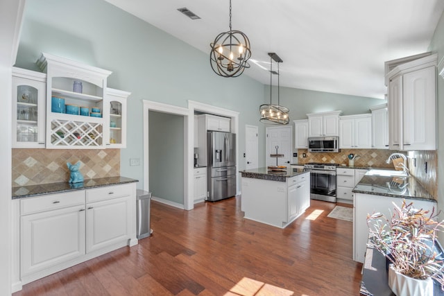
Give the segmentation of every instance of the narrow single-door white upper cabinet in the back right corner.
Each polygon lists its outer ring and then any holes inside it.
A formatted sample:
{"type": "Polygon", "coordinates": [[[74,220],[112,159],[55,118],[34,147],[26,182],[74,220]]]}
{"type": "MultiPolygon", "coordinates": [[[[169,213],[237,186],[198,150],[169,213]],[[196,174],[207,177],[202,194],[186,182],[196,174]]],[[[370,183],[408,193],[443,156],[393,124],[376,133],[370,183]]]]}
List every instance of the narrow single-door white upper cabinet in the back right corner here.
{"type": "Polygon", "coordinates": [[[388,148],[387,104],[370,108],[372,112],[372,148],[388,148]]]}

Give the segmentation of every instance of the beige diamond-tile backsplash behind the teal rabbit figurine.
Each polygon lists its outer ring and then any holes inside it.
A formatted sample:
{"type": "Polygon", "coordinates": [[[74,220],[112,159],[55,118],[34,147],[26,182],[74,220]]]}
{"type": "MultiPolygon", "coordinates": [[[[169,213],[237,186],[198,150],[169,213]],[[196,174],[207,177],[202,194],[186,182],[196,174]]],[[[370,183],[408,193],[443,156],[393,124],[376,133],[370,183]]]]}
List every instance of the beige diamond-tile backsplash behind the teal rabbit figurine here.
{"type": "Polygon", "coordinates": [[[67,182],[67,162],[85,179],[120,175],[119,149],[12,149],[12,187],[67,182]]]}

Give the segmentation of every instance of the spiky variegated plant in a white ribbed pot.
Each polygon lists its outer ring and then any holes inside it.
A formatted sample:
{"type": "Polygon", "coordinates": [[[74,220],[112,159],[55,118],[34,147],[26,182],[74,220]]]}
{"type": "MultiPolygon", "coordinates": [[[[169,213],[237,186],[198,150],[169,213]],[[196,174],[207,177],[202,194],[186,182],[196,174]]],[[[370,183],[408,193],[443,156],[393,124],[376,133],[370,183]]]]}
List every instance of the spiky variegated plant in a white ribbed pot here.
{"type": "Polygon", "coordinates": [[[391,262],[388,286],[396,295],[433,295],[434,279],[444,290],[443,261],[435,247],[444,221],[436,222],[433,211],[415,209],[413,202],[393,204],[390,220],[380,213],[367,216],[369,245],[391,262]]]}

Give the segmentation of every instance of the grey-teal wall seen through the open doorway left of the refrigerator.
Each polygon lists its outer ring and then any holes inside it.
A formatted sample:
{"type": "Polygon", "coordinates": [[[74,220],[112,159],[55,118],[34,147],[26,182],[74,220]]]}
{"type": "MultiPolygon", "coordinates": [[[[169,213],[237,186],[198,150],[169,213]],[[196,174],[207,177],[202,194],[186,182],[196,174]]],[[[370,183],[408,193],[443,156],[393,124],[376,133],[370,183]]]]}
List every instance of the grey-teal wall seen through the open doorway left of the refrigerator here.
{"type": "Polygon", "coordinates": [[[149,111],[148,125],[150,191],[184,204],[184,116],[149,111]]]}

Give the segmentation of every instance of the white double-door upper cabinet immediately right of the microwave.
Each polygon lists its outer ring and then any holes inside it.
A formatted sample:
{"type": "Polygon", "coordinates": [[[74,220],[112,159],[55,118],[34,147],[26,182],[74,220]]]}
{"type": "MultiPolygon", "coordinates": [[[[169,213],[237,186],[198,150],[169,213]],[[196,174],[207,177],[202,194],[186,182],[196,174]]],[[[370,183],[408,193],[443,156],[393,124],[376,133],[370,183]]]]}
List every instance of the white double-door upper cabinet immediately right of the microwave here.
{"type": "Polygon", "coordinates": [[[339,148],[368,149],[372,145],[372,115],[340,116],[339,148]]]}

